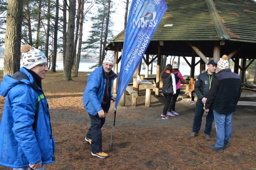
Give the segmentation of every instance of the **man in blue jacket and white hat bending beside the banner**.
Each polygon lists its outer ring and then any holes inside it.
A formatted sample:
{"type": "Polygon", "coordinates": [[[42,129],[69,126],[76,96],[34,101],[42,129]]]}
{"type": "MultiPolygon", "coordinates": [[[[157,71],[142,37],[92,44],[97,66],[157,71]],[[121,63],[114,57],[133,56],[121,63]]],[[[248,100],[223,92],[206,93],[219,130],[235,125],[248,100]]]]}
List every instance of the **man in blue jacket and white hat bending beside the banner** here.
{"type": "Polygon", "coordinates": [[[108,113],[111,100],[115,102],[111,89],[117,74],[112,71],[113,66],[114,56],[111,53],[105,57],[103,64],[88,76],[83,95],[84,108],[91,120],[85,140],[92,146],[92,155],[99,158],[108,157],[107,153],[102,152],[101,128],[105,123],[105,114],[108,113]]]}

